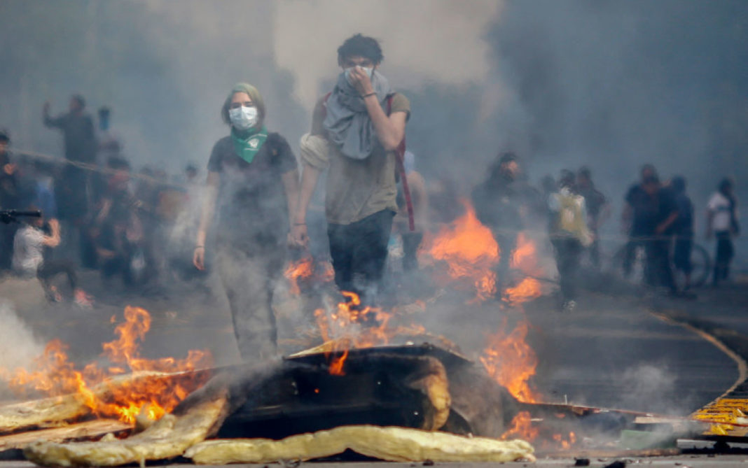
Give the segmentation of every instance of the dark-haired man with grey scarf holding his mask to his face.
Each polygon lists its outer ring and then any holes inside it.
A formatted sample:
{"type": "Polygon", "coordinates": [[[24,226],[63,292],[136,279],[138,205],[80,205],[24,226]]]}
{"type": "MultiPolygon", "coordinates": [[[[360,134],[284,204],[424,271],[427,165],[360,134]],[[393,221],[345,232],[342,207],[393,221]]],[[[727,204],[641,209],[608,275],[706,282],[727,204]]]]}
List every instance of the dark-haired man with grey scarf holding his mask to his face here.
{"type": "Polygon", "coordinates": [[[319,99],[312,129],[301,138],[303,173],[291,241],[307,247],[307,209],[323,170],[328,170],[325,215],[335,283],[374,305],[387,261],[397,212],[397,149],[411,113],[378,70],[384,55],[362,34],[337,49],[340,74],[319,99]]]}

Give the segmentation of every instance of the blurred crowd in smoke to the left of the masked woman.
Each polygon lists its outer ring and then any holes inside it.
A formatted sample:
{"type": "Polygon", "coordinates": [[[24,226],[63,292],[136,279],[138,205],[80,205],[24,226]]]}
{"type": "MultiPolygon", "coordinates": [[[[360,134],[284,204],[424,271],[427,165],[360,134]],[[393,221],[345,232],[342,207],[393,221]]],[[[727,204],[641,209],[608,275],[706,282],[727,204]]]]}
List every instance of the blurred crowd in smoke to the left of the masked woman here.
{"type": "Polygon", "coordinates": [[[196,210],[188,207],[199,197],[197,167],[172,175],[134,170],[111,129],[111,110],[99,108],[94,120],[82,96],[72,96],[58,117],[49,111],[46,104],[43,123],[61,132],[64,159],[14,153],[10,133],[0,132],[0,209],[41,213],[0,225],[0,271],[36,275],[52,301],[61,300],[52,280],[65,274],[80,304],[88,302],[81,268],[141,291],[164,274],[199,274],[191,247],[183,247],[194,236],[196,210]]]}

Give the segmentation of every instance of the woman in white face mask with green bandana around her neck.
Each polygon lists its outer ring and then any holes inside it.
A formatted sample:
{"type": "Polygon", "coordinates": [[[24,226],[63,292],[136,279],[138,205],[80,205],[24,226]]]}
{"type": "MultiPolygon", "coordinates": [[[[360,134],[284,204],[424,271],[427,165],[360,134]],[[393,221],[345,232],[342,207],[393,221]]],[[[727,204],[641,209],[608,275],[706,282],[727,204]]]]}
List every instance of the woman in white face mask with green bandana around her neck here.
{"type": "Polygon", "coordinates": [[[266,129],[263,98],[251,84],[233,87],[221,117],[230,135],[215,143],[208,161],[192,261],[205,268],[212,224],[209,253],[226,290],[239,352],[244,360],[268,359],[277,341],[272,292],[298,197],[296,159],[286,139],[266,129]]]}

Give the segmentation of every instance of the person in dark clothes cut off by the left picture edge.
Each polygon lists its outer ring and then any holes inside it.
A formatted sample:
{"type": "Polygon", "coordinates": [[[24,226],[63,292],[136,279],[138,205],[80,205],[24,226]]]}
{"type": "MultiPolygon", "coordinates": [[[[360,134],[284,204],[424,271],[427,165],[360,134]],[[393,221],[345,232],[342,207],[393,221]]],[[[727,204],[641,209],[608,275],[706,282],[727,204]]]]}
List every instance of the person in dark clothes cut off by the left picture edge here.
{"type": "MultiPolygon", "coordinates": [[[[0,129],[0,209],[19,209],[20,193],[16,164],[10,154],[10,133],[0,129]]],[[[0,271],[10,270],[15,224],[0,223],[0,271]]]]}

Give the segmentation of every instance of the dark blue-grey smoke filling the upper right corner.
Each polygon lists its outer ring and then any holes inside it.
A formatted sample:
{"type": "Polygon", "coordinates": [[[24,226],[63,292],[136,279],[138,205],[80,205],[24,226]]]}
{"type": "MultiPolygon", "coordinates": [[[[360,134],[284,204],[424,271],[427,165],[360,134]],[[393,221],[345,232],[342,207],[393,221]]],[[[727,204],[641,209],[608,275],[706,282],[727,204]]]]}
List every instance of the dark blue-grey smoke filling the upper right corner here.
{"type": "Polygon", "coordinates": [[[487,36],[509,89],[497,118],[536,178],[589,164],[617,199],[652,162],[700,206],[748,176],[746,19],[742,1],[512,2],[487,36]]]}

